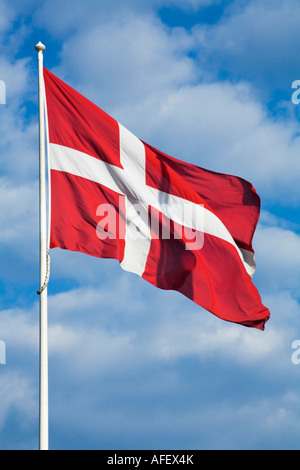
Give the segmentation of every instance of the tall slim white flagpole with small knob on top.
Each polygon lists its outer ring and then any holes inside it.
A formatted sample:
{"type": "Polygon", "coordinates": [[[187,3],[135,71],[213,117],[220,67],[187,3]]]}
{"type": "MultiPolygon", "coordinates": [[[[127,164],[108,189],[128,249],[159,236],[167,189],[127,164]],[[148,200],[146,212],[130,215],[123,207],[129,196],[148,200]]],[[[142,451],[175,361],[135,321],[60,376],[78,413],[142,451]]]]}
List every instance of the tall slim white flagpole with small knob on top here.
{"type": "Polygon", "coordinates": [[[46,205],[46,156],[45,156],[45,115],[43,52],[45,46],[39,42],[35,46],[38,52],[39,76],[39,219],[40,219],[40,397],[39,397],[39,449],[48,450],[48,312],[47,312],[47,205],[46,205]],[[43,286],[43,287],[42,287],[43,286]]]}

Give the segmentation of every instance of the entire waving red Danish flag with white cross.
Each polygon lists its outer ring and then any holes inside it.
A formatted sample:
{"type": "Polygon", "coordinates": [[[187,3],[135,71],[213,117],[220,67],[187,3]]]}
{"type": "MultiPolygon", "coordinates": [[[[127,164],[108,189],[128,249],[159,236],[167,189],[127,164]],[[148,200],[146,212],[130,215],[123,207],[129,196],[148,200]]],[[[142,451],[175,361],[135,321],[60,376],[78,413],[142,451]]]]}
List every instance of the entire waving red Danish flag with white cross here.
{"type": "Polygon", "coordinates": [[[264,329],[252,283],[260,199],[250,183],[142,142],[44,69],[50,248],[119,260],[214,315],[264,329]]]}

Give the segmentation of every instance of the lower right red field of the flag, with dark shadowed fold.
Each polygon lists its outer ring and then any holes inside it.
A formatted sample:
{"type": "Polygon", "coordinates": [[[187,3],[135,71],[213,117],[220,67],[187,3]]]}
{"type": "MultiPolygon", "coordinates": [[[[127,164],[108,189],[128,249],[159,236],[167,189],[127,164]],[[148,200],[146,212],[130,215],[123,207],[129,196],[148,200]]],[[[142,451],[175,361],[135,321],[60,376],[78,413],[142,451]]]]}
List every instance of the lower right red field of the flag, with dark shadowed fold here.
{"type": "MultiPolygon", "coordinates": [[[[160,217],[151,209],[152,217],[160,217]]],[[[161,219],[161,217],[160,217],[161,219]]],[[[259,293],[249,281],[235,248],[224,240],[205,234],[200,250],[186,250],[184,237],[177,238],[178,224],[172,227],[168,240],[152,236],[143,278],[161,289],[181,292],[193,302],[219,318],[248,327],[264,329],[269,311],[262,305],[259,293]],[[249,315],[249,312],[251,314],[249,315]]],[[[189,241],[191,237],[188,237],[189,241]]]]}

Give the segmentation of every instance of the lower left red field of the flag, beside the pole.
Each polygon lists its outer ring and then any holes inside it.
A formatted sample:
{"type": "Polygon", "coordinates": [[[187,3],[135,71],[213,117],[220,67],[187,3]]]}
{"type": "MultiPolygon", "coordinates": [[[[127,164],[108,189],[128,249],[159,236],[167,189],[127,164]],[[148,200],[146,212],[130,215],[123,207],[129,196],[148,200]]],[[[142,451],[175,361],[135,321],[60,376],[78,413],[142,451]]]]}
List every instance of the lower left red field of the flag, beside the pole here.
{"type": "Polygon", "coordinates": [[[97,236],[97,228],[102,225],[97,209],[100,204],[110,204],[116,214],[122,214],[125,212],[124,197],[93,181],[56,170],[51,171],[51,189],[50,248],[122,261],[124,221],[118,217],[113,237],[103,240],[97,236]]]}

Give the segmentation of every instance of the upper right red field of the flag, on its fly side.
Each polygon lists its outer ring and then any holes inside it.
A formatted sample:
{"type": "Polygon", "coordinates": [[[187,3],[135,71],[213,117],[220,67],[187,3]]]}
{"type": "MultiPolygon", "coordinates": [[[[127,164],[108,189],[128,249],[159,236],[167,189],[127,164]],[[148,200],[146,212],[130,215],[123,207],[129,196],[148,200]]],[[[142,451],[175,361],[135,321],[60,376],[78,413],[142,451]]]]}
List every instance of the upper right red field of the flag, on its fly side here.
{"type": "Polygon", "coordinates": [[[253,251],[260,198],[251,183],[182,162],[146,143],[145,148],[149,186],[204,204],[219,217],[239,247],[253,251]]]}

